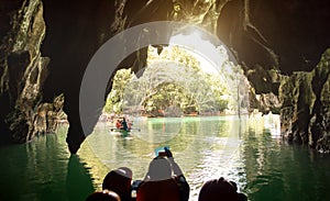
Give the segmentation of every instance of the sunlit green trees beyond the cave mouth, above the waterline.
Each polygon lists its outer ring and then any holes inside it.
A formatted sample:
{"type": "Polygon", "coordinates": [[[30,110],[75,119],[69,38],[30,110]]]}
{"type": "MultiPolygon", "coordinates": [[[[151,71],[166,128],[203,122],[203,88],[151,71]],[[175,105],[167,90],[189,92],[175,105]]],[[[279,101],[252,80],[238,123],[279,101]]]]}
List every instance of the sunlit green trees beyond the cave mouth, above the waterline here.
{"type": "Polygon", "coordinates": [[[147,56],[147,67],[143,74],[138,72],[139,78],[130,69],[117,71],[106,112],[158,116],[237,110],[233,105],[240,101],[239,67],[232,67],[234,72],[221,71],[222,77],[207,74],[200,62],[179,46],[164,47],[160,55],[150,47],[147,56]]]}

